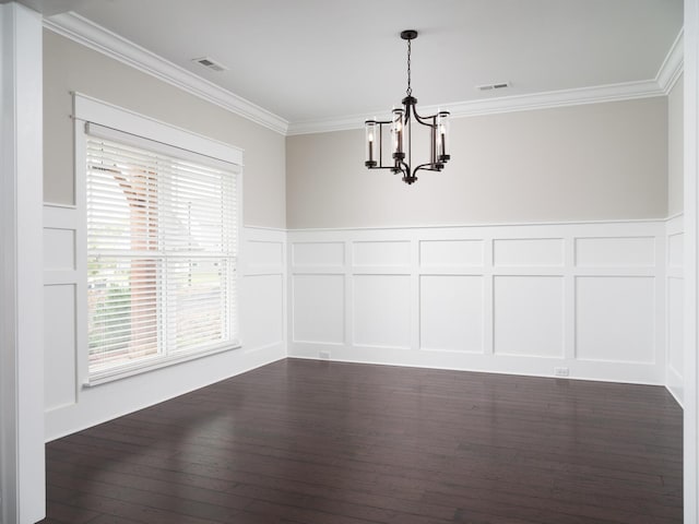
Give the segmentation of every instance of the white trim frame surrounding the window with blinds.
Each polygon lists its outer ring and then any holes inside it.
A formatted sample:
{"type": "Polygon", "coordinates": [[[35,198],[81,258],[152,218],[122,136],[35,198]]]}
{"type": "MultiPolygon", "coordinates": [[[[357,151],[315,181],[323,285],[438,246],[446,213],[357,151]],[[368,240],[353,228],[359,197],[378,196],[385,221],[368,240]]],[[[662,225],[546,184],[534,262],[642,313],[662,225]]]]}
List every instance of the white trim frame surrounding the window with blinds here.
{"type": "Polygon", "coordinates": [[[228,352],[241,347],[240,342],[240,251],[242,246],[242,150],[229,144],[209,139],[201,134],[161,122],[153,118],[139,115],[121,107],[92,98],[81,93],[73,93],[73,124],[74,124],[74,170],[75,186],[74,198],[79,213],[79,227],[75,238],[75,271],[78,283],[75,288],[75,319],[76,319],[76,348],[78,348],[78,378],[83,386],[94,386],[127,377],[144,373],[167,366],[199,359],[202,357],[228,352]],[[157,356],[133,365],[120,366],[115,369],[90,372],[88,340],[87,340],[87,216],[86,216],[86,171],[84,159],[86,158],[85,124],[90,122],[96,126],[110,128],[117,132],[125,132],[137,138],[165,144],[165,147],[176,147],[198,155],[208,156],[215,160],[230,165],[236,180],[236,207],[237,207],[237,271],[235,272],[235,318],[237,325],[237,338],[233,344],[212,347],[208,350],[193,354],[173,354],[157,356]]]}

